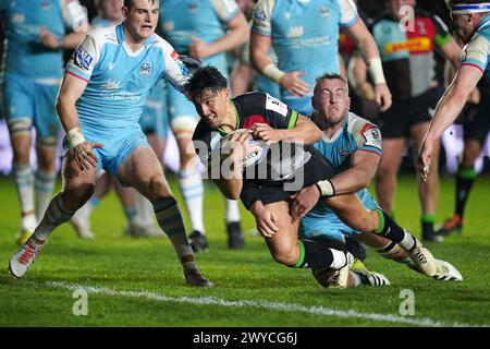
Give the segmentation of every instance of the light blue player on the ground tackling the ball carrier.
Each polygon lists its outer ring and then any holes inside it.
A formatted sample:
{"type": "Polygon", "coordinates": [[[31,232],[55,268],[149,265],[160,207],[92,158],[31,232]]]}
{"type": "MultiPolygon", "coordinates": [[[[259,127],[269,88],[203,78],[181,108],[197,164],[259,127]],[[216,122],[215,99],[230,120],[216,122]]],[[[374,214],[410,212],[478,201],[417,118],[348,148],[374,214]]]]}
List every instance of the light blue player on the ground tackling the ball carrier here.
{"type": "MultiPolygon", "coordinates": [[[[322,131],[320,141],[314,144],[315,148],[323,155],[333,166],[336,174],[317,185],[304,189],[291,202],[291,213],[294,217],[303,217],[298,230],[301,239],[310,239],[316,242],[329,244],[331,241],[345,242],[345,237],[360,240],[375,248],[384,257],[402,262],[417,269],[409,257],[409,249],[383,236],[383,224],[392,221],[385,215],[366,189],[375,176],[381,157],[381,133],[371,122],[348,111],[347,81],[336,74],[327,73],[317,77],[311,104],[315,109],[311,120],[322,131]],[[335,210],[335,203],[319,200],[320,196],[342,197],[356,194],[365,209],[376,210],[383,222],[372,232],[360,232],[348,227],[335,210]],[[306,214],[306,215],[305,215],[306,214]]],[[[395,225],[393,225],[395,226],[395,225]]],[[[416,239],[407,234],[408,241],[416,239]]],[[[406,241],[405,241],[406,242],[406,241]]],[[[417,242],[419,244],[419,242],[417,242]]],[[[461,274],[449,263],[434,260],[437,272],[431,275],[440,280],[462,279],[461,274]]],[[[329,273],[332,276],[336,270],[317,268],[313,270],[320,284],[327,286],[329,273]]],[[[371,274],[365,268],[355,273],[357,284],[385,285],[385,279],[371,274]],[[364,280],[363,280],[364,279],[364,280]]]]}

